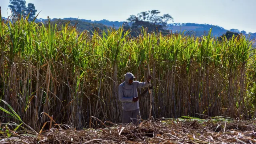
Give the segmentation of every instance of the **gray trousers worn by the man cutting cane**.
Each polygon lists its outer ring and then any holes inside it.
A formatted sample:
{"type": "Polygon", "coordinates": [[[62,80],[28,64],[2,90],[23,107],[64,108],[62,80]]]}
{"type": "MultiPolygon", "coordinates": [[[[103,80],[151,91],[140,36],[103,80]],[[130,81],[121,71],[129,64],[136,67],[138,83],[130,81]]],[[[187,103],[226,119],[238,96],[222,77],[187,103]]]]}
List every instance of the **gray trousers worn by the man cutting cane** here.
{"type": "Polygon", "coordinates": [[[130,123],[132,122],[134,125],[140,124],[140,109],[138,110],[131,110],[131,111],[125,111],[123,110],[122,113],[122,123],[130,123]]]}

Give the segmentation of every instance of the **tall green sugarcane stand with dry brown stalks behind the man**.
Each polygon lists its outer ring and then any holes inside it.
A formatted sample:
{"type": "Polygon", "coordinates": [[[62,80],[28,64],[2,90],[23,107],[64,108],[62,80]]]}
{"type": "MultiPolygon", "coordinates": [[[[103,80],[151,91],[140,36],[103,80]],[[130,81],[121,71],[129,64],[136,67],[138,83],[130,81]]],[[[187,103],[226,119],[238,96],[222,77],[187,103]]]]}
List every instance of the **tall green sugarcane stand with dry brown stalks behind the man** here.
{"type": "Polygon", "coordinates": [[[118,85],[126,72],[139,81],[153,76],[154,89],[140,100],[143,119],[255,118],[256,55],[242,34],[219,41],[211,30],[202,37],[146,29],[132,37],[123,28],[93,33],[1,18],[1,122],[36,132],[53,120],[76,129],[88,128],[91,116],[119,123],[118,85]]]}

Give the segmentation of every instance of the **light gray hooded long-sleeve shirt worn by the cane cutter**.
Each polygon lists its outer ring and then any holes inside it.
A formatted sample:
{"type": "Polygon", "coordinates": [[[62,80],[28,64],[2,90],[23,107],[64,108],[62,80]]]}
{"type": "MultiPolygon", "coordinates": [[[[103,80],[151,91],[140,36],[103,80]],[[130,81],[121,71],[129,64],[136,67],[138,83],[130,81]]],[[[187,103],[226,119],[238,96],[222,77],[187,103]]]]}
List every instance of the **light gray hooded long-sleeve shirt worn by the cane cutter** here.
{"type": "Polygon", "coordinates": [[[148,82],[138,81],[133,81],[130,85],[127,83],[129,79],[130,77],[126,76],[125,81],[118,87],[119,100],[122,102],[122,108],[125,111],[137,110],[140,108],[139,101],[133,102],[132,99],[138,97],[137,88],[144,88],[149,85],[148,82]]]}

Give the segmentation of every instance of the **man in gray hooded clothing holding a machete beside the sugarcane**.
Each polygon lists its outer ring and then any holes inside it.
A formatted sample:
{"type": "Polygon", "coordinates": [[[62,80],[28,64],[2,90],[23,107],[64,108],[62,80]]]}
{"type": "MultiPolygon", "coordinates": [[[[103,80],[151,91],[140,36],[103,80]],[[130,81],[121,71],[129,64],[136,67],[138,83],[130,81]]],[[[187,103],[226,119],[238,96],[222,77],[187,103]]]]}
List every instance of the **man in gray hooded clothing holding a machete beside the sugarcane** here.
{"type": "Polygon", "coordinates": [[[118,87],[119,100],[122,102],[122,123],[133,124],[140,123],[140,105],[138,101],[137,88],[149,86],[152,76],[148,76],[146,82],[134,81],[135,76],[128,72],[125,74],[125,80],[118,87]]]}

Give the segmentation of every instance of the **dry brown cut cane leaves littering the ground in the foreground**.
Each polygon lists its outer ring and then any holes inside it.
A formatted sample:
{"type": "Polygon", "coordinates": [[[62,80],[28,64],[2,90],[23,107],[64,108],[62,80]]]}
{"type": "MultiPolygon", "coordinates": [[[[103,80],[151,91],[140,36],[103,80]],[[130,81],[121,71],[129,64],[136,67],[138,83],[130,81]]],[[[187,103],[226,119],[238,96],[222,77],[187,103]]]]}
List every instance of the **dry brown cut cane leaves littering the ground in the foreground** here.
{"type": "MultiPolygon", "coordinates": [[[[44,144],[228,144],[256,143],[255,121],[232,122],[208,122],[199,123],[198,121],[186,120],[168,120],[161,122],[160,119],[155,122],[143,121],[140,125],[134,126],[114,124],[107,128],[75,130],[69,128],[55,128],[38,134],[36,138],[32,136],[21,136],[16,134],[14,137],[3,138],[1,143],[44,143],[44,144]]],[[[4,135],[4,134],[3,134],[4,135]]]]}

